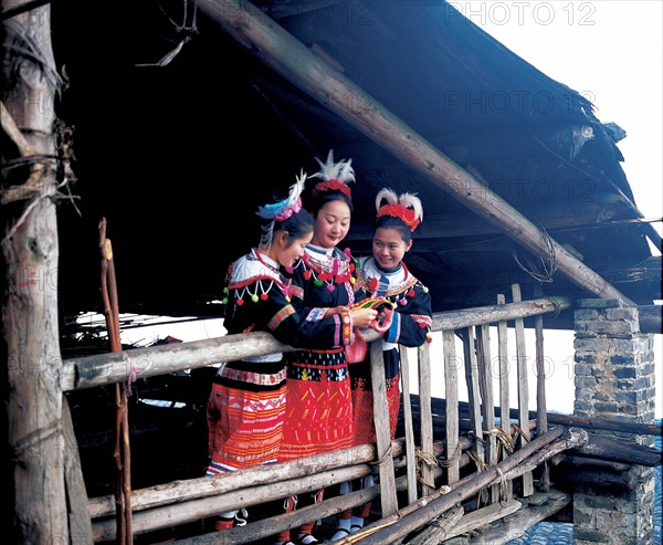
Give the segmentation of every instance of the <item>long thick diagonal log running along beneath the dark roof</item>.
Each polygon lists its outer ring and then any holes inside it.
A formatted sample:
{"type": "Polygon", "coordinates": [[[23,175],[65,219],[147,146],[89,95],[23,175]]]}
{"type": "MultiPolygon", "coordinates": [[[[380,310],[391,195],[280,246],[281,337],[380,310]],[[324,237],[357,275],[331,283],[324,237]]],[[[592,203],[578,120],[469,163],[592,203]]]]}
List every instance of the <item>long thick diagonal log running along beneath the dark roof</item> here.
{"type": "Polygon", "coordinates": [[[617,298],[634,304],[251,2],[201,0],[199,8],[278,74],[440,186],[470,210],[497,226],[515,242],[544,260],[549,260],[552,251],[559,271],[573,284],[601,298],[617,298]],[[366,106],[348,107],[348,99],[366,106]]]}

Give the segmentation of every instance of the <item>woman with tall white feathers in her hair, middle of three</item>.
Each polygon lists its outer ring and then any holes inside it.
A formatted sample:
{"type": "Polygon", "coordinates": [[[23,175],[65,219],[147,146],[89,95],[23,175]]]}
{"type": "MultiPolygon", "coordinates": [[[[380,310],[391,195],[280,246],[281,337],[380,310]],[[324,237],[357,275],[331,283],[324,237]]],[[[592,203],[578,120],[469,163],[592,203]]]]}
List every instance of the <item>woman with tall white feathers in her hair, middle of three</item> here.
{"type": "MultiPolygon", "coordinates": [[[[316,159],[317,160],[317,159],[316,159]]],[[[329,151],[327,163],[319,161],[320,171],[314,176],[322,179],[313,189],[311,207],[315,228],[311,244],[297,262],[288,270],[293,284],[301,287],[293,300],[304,314],[323,312],[326,307],[343,305],[346,328],[339,344],[347,343],[354,327],[368,327],[377,317],[371,308],[349,310],[364,298],[355,293],[355,262],[349,252],[337,244],[345,239],[350,228],[352,201],[347,186],[354,181],[351,159],[334,163],[329,151]],[[302,294],[302,298],[299,298],[302,294]]],[[[312,176],[313,177],[313,176],[312,176]]],[[[325,349],[301,349],[287,353],[287,413],[284,425],[284,441],[280,460],[297,460],[323,452],[336,451],[352,444],[352,406],[348,364],[341,347],[325,349]]],[[[301,497],[292,497],[286,511],[320,502],[324,489],[301,497]]],[[[308,545],[318,541],[312,534],[315,522],[302,525],[296,539],[308,545]]],[[[277,543],[287,543],[290,533],[280,535],[277,543]]]]}

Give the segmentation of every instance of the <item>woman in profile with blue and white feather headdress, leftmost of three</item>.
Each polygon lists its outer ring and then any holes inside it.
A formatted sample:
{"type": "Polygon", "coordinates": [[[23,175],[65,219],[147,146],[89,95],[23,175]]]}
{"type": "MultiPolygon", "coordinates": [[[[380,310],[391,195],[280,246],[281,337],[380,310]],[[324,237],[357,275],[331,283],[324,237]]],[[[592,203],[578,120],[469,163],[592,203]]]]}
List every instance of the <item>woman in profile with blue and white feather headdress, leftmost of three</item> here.
{"type": "MultiPolygon", "coordinates": [[[[296,287],[281,273],[299,261],[313,237],[313,217],[302,208],[305,180],[302,172],[286,199],[259,208],[266,221],[260,243],[228,270],[223,325],[229,334],[262,331],[291,346],[341,346],[341,308],[313,317],[297,312],[292,303],[296,287]]],[[[219,367],[207,407],[208,476],[278,461],[286,388],[281,353],[219,367]]],[[[214,530],[245,525],[245,510],[223,513],[214,530]]]]}

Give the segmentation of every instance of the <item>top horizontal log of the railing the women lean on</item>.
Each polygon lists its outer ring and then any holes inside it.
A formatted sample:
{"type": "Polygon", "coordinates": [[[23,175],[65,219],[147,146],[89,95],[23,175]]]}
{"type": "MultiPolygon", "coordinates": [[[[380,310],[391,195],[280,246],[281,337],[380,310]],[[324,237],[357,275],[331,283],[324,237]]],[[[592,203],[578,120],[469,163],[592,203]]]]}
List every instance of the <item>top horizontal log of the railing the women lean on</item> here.
{"type": "MultiPolygon", "coordinates": [[[[566,297],[543,297],[517,304],[487,305],[438,313],[433,314],[431,331],[459,329],[474,324],[490,324],[499,319],[536,316],[570,306],[570,300],[566,297]]],[[[381,334],[372,329],[366,329],[362,333],[367,342],[381,337],[381,334]]],[[[232,361],[249,356],[293,349],[292,346],[278,343],[269,333],[253,332],[191,343],[95,354],[66,359],[61,385],[64,391],[92,388],[127,380],[129,377],[154,377],[182,369],[204,367],[219,361],[232,361]]]]}

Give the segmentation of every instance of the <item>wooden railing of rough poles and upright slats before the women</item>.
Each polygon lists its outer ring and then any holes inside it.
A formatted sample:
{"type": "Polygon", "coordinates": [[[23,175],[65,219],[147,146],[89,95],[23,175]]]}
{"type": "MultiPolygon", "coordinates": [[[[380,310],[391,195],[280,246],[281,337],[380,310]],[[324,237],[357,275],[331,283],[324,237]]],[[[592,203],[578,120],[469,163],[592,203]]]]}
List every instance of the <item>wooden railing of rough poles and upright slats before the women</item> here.
{"type": "MultiPolygon", "coordinates": [[[[344,509],[361,505],[378,495],[382,513],[380,524],[368,525],[364,532],[354,534],[352,539],[347,543],[359,539],[361,543],[388,543],[401,533],[404,536],[412,530],[425,525],[431,516],[448,514],[450,521],[459,518],[462,513],[455,513],[452,509],[461,500],[473,495],[477,495],[477,501],[486,506],[497,505],[502,501],[497,510],[501,516],[517,509],[519,503],[512,500],[511,481],[520,479],[520,494],[524,496],[532,494],[532,470],[543,464],[546,457],[570,448],[569,446],[579,444],[582,438],[578,434],[568,437],[562,433],[565,429],[558,427],[550,432],[546,429],[537,429],[536,439],[530,440],[529,396],[524,365],[518,365],[517,368],[518,418],[515,425],[511,423],[508,415],[512,403],[508,381],[505,379],[506,371],[502,368],[502,364],[508,360],[507,324],[513,323],[515,328],[516,359],[525,363],[527,358],[523,321],[526,317],[557,313],[570,306],[568,301],[555,297],[520,302],[517,285],[513,286],[512,298],[514,302],[506,304],[505,297],[501,295],[496,300],[498,303],[493,306],[439,313],[433,316],[432,331],[440,336],[443,361],[431,361],[429,345],[415,350],[419,403],[414,418],[410,402],[412,397],[409,355],[412,349],[401,347],[404,437],[391,441],[388,410],[380,405],[386,403],[386,400],[383,396],[375,396],[376,444],[366,444],[269,468],[251,468],[215,478],[177,481],[134,491],[131,494],[134,534],[177,526],[231,509],[250,507],[287,497],[304,490],[350,481],[375,472],[376,461],[379,461],[377,464],[379,486],[343,497],[332,497],[322,504],[297,510],[288,515],[251,523],[250,532],[245,528],[233,528],[218,533],[214,543],[250,543],[282,530],[295,527],[308,520],[332,516],[344,509]],[[491,378],[491,327],[496,328],[498,336],[501,378],[497,396],[493,392],[491,378]],[[456,338],[462,343],[462,356],[459,354],[460,350],[456,350],[456,338]],[[432,412],[431,364],[444,366],[445,415],[443,418],[432,412]],[[459,410],[461,369],[464,369],[465,374],[470,409],[470,429],[463,430],[459,410]],[[499,407],[501,416],[507,415],[506,418],[496,418],[495,405],[499,407]],[[419,426],[413,426],[414,421],[418,421],[419,426]],[[443,439],[435,438],[434,421],[443,422],[443,439]],[[540,449],[544,447],[546,447],[545,455],[540,454],[540,449]],[[465,470],[467,474],[461,478],[461,470],[472,463],[476,465],[476,471],[467,473],[465,470]],[[443,494],[451,491],[453,491],[451,495],[443,494]],[[407,495],[407,505],[401,507],[398,504],[399,493],[407,495]],[[452,497],[454,501],[449,504],[452,497]],[[315,515],[312,515],[311,509],[315,510],[315,515]],[[448,513],[450,510],[453,512],[448,513]],[[388,533],[389,537],[382,533],[388,533]],[[387,541],[383,541],[385,538],[387,541]]],[[[540,321],[535,319],[538,335],[540,321]]],[[[371,343],[371,358],[375,358],[378,364],[371,366],[373,389],[383,391],[385,377],[380,345],[372,343],[380,336],[375,332],[366,332],[365,337],[371,343]]],[[[433,343],[439,343],[439,339],[433,343]]],[[[65,391],[91,388],[129,378],[165,375],[220,361],[292,349],[277,343],[269,334],[251,333],[85,356],[67,359],[64,363],[62,387],[65,391]]],[[[543,343],[539,346],[537,342],[537,360],[541,356],[538,350],[543,350],[543,343]]],[[[539,377],[544,376],[545,374],[539,373],[539,377]]],[[[545,387],[543,385],[540,388],[537,387],[537,392],[540,397],[541,392],[545,392],[545,387]]],[[[545,412],[545,403],[539,405],[539,410],[545,412]]],[[[90,499],[88,513],[78,514],[80,518],[88,518],[94,542],[115,538],[115,499],[103,496],[90,499]]],[[[450,527],[457,526],[455,523],[449,524],[450,527]]],[[[181,543],[185,542],[187,541],[181,543]]],[[[193,543],[198,542],[191,538],[191,544],[193,543]]]]}

